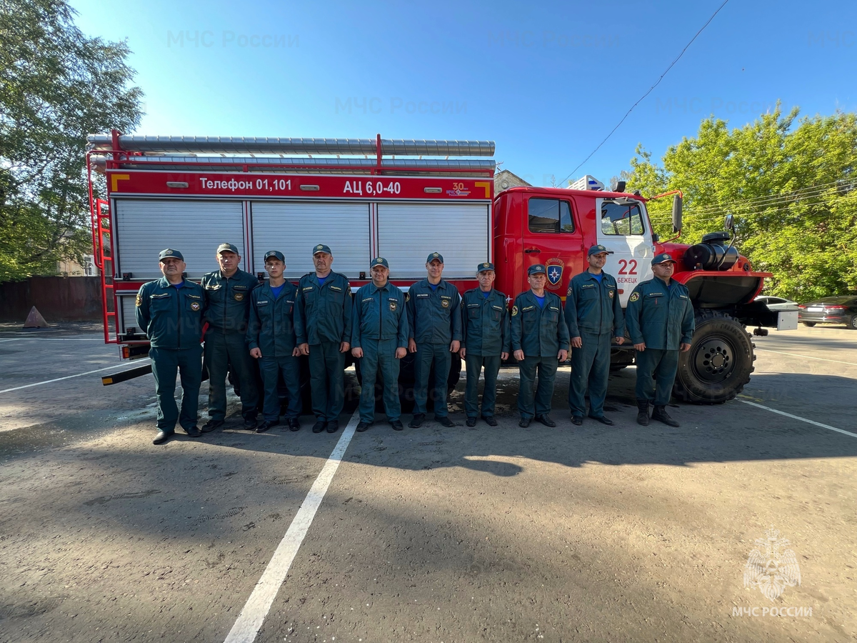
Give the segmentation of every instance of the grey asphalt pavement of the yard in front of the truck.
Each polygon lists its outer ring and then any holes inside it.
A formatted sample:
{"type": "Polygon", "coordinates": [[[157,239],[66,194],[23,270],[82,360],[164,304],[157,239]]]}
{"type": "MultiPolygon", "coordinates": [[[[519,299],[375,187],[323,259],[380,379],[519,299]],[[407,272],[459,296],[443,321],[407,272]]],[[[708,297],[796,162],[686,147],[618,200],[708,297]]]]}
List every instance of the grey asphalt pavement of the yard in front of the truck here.
{"type": "Polygon", "coordinates": [[[155,447],[152,376],[102,387],[129,364],[97,329],[0,328],[0,640],[854,640],[857,333],[754,341],[678,429],[636,424],[633,368],[573,427],[566,367],[556,429],[518,428],[508,370],[495,429],[463,375],[454,429],[354,433],[350,373],[337,434],[232,398],[155,447]]]}

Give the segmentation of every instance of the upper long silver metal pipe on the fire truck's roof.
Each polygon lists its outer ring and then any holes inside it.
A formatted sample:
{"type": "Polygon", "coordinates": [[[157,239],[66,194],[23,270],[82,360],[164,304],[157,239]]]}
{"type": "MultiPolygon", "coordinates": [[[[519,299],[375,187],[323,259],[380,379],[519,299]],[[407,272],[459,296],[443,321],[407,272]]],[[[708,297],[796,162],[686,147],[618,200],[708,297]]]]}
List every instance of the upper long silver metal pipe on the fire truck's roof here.
{"type": "MultiPolygon", "coordinates": [[[[111,135],[87,136],[88,147],[110,150],[111,135]]],[[[262,153],[262,154],[375,154],[368,138],[278,138],[258,136],[119,136],[126,152],[142,153],[262,153]]],[[[381,139],[382,154],[416,156],[493,156],[494,141],[432,141],[381,139]]]]}

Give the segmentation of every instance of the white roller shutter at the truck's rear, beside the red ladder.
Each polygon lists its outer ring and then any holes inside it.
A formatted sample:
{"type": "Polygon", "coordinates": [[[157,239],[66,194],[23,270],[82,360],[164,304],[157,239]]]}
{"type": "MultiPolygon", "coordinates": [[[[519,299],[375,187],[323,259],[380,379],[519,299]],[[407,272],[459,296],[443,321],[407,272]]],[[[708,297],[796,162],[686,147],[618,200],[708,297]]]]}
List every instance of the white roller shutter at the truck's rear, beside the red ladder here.
{"type": "Polygon", "coordinates": [[[220,243],[234,243],[244,255],[241,201],[116,199],[115,204],[117,275],[159,279],[158,254],[165,248],[182,253],[190,279],[218,269],[220,243]]]}

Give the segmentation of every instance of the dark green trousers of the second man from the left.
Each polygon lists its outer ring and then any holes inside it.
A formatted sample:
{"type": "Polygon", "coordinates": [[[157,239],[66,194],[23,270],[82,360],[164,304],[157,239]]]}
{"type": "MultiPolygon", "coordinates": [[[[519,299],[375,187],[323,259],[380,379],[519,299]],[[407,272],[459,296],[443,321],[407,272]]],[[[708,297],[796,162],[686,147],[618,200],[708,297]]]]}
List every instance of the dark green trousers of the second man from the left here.
{"type": "Polygon", "coordinates": [[[259,414],[259,388],[256,386],[255,359],[250,357],[243,333],[206,333],[208,369],[208,415],[213,420],[226,418],[226,373],[230,366],[238,378],[241,414],[255,418],[259,414]]]}

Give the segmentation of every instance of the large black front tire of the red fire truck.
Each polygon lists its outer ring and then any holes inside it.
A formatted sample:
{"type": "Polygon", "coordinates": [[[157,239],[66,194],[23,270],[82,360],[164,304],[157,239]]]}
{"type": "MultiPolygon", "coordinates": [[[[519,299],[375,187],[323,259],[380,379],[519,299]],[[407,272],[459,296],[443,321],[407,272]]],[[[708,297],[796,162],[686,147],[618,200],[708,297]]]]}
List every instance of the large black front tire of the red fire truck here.
{"type": "Polygon", "coordinates": [[[750,382],[755,347],[751,335],[734,317],[698,310],[691,350],[679,354],[673,394],[694,404],[732,400],[750,382]]]}

